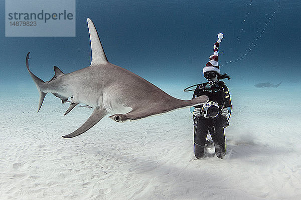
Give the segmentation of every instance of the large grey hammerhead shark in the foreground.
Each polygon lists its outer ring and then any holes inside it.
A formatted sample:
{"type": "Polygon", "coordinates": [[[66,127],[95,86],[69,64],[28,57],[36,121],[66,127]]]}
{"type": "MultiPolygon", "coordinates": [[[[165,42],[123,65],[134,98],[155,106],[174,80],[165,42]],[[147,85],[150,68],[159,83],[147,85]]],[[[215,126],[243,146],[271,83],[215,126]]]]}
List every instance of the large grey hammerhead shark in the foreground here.
{"type": "Polygon", "coordinates": [[[207,96],[192,100],[181,100],[170,96],[142,77],[110,63],[102,48],[97,30],[91,19],[87,19],[90,33],[92,60],[88,67],[63,73],[54,66],[55,75],[44,82],[29,69],[29,53],[26,67],[40,92],[39,108],[49,92],[61,98],[62,103],[71,102],[66,115],[77,104],[84,103],[94,108],[91,116],[75,131],[63,137],[80,135],[95,125],[108,113],[117,122],[140,119],[165,113],[174,109],[206,103],[207,96]]]}

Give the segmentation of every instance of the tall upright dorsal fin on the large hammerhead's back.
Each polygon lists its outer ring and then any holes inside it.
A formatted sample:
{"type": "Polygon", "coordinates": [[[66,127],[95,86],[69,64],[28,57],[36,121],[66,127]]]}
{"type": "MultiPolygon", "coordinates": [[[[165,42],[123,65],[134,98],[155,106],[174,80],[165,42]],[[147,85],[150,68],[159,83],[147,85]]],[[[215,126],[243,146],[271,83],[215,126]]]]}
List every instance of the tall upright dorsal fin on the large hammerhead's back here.
{"type": "Polygon", "coordinates": [[[102,48],[97,30],[94,26],[93,21],[90,18],[87,18],[89,33],[90,33],[90,41],[91,41],[91,50],[92,50],[92,58],[91,58],[91,66],[97,66],[99,64],[107,63],[107,57],[102,48]]]}

